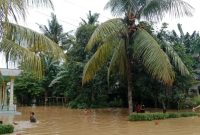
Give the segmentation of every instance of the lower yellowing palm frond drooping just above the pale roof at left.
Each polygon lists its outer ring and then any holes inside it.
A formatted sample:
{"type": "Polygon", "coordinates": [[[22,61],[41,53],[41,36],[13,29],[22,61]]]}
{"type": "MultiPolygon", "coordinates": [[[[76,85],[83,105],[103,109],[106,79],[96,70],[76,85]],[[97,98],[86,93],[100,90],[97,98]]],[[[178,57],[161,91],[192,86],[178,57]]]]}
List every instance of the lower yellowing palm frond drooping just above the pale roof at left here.
{"type": "Polygon", "coordinates": [[[25,69],[36,72],[39,77],[42,76],[41,59],[36,53],[8,39],[2,40],[0,48],[3,52],[9,52],[9,57],[11,59],[17,59],[25,69]]]}

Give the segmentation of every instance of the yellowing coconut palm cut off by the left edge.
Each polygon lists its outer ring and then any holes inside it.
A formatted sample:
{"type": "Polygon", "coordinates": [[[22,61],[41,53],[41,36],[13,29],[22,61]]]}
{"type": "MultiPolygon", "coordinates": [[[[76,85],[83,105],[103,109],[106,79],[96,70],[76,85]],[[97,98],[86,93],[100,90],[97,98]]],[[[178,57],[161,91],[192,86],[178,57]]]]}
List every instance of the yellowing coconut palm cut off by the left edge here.
{"type": "Polygon", "coordinates": [[[42,74],[42,62],[40,55],[45,53],[57,59],[64,59],[62,49],[43,34],[32,31],[18,24],[10,23],[8,16],[11,15],[17,21],[18,17],[26,17],[29,6],[53,7],[50,0],[3,0],[0,2],[3,14],[0,25],[3,37],[0,50],[5,52],[9,59],[17,60],[25,69],[42,74]]]}

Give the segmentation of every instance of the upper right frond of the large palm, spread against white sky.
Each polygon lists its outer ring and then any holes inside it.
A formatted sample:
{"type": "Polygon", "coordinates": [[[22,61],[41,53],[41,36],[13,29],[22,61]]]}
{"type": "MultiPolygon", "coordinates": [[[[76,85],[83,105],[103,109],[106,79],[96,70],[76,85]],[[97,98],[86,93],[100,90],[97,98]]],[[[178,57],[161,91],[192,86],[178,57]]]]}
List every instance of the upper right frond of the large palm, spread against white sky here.
{"type": "Polygon", "coordinates": [[[192,16],[194,8],[183,0],[151,0],[141,16],[152,21],[160,21],[169,13],[173,17],[192,16]]]}

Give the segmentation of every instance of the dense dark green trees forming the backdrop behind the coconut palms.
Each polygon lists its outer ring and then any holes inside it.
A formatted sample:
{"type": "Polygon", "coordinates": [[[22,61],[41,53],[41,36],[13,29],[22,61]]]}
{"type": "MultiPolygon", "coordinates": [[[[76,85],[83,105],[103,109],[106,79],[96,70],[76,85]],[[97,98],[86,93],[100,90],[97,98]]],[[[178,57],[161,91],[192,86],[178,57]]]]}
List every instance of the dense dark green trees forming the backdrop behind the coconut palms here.
{"type": "MultiPolygon", "coordinates": [[[[30,105],[33,99],[36,99],[36,103],[40,104],[39,101],[45,101],[47,97],[65,97],[67,98],[66,105],[71,108],[128,106],[127,82],[124,81],[121,73],[111,74],[109,84],[107,83],[109,63],[104,63],[101,66],[101,70],[95,74],[91,82],[82,85],[83,68],[97,50],[97,45],[95,45],[89,53],[85,52],[86,44],[99,26],[96,18],[98,18],[98,14],[89,12],[88,21],[82,19],[83,22],[80,23],[74,35],[63,33],[62,26],[55,20],[55,16],[52,19],[56,23],[49,23],[49,25],[52,25],[49,27],[43,26],[51,31],[49,38],[57,34],[58,37],[59,35],[62,37],[54,42],[62,43],[61,45],[64,46],[67,63],[59,62],[49,57],[48,54],[41,55],[44,77],[38,79],[34,73],[25,72],[16,80],[15,95],[19,104],[30,105]],[[53,24],[59,27],[53,27],[53,24]],[[59,30],[61,31],[58,32],[59,30]]],[[[185,34],[180,24],[178,24],[179,33],[174,30],[167,30],[166,23],[159,30],[155,30],[153,24],[147,22],[141,22],[140,26],[154,37],[164,52],[179,55],[190,71],[190,75],[182,76],[181,71],[176,67],[176,63],[173,63],[175,57],[168,55],[175,70],[176,78],[172,87],[166,87],[162,81],[158,81],[147,74],[141,60],[135,61],[132,70],[133,106],[139,103],[145,104],[146,107],[181,109],[198,105],[198,98],[193,99],[196,92],[191,92],[190,89],[192,85],[198,83],[196,79],[199,77],[197,69],[199,67],[200,36],[198,32],[185,34]],[[166,43],[169,46],[166,46],[166,43]],[[169,53],[170,47],[176,53],[169,53]]],[[[48,36],[48,34],[45,35],[48,36]]],[[[54,39],[52,38],[52,40],[54,39]]],[[[179,61],[179,59],[175,60],[179,61]]]]}

